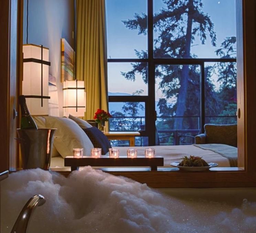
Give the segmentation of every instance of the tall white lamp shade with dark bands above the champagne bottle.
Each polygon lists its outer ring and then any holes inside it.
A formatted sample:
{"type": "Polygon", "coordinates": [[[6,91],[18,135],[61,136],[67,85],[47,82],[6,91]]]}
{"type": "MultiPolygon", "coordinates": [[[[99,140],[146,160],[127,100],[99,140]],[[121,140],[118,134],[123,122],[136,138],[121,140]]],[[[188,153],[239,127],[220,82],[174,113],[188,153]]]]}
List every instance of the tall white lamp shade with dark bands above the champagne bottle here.
{"type": "MultiPolygon", "coordinates": [[[[49,66],[43,64],[43,93],[41,93],[41,46],[33,44],[23,45],[23,59],[34,58],[37,62],[23,63],[22,95],[24,96],[48,96],[49,66]]],[[[49,49],[43,47],[43,60],[49,62],[49,49]]],[[[34,60],[35,61],[35,60],[34,60]]],[[[26,104],[31,115],[47,115],[49,99],[26,98],[26,104]]]]}

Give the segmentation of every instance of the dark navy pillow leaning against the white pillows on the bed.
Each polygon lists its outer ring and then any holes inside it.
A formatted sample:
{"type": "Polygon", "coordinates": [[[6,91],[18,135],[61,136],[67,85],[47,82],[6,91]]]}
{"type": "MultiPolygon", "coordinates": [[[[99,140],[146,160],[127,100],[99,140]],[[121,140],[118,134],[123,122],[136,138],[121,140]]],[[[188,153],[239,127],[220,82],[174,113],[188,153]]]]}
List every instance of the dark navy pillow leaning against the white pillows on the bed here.
{"type": "Polygon", "coordinates": [[[102,148],[102,155],[108,153],[108,149],[112,148],[107,136],[96,127],[84,129],[84,132],[90,138],[95,148],[102,148]]]}

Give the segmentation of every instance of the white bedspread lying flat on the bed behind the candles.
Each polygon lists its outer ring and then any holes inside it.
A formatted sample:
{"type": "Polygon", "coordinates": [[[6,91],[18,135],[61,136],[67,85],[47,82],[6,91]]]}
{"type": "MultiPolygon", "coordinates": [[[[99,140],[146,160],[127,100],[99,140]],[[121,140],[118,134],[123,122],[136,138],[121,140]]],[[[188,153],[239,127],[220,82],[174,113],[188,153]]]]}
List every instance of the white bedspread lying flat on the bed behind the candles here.
{"type": "MultiPolygon", "coordinates": [[[[126,155],[127,148],[132,147],[116,147],[120,149],[120,155],[126,155]]],[[[137,148],[138,155],[144,155],[144,151],[149,146],[134,147],[137,148]]],[[[217,163],[219,167],[230,167],[227,158],[210,150],[201,149],[193,145],[183,146],[150,146],[156,150],[156,155],[163,156],[164,167],[170,167],[170,163],[181,161],[183,156],[201,156],[207,163],[217,163]]],[[[51,167],[64,167],[64,159],[61,156],[51,159],[51,167]]]]}

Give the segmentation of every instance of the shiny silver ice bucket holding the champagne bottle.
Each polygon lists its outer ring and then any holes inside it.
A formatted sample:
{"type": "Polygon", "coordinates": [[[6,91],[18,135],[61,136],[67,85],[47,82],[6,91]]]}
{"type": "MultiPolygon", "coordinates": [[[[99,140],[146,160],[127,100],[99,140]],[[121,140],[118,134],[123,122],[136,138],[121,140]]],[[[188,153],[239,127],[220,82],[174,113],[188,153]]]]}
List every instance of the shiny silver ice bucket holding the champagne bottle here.
{"type": "Polygon", "coordinates": [[[56,129],[17,129],[23,169],[49,170],[56,129]]]}

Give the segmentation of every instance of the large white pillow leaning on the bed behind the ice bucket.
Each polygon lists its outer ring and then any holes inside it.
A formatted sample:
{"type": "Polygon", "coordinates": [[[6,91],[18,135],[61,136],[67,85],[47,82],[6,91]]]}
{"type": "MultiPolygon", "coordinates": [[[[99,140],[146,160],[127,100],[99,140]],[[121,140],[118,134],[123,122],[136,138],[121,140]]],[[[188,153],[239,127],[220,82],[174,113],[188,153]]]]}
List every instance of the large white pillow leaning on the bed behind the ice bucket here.
{"type": "Polygon", "coordinates": [[[46,118],[46,127],[57,129],[53,145],[63,158],[73,155],[73,148],[84,148],[84,155],[90,155],[93,144],[85,132],[73,120],[48,116],[46,118]]]}

